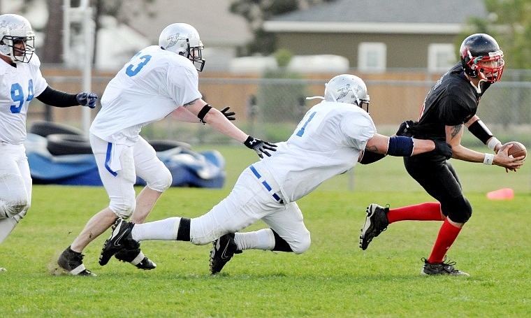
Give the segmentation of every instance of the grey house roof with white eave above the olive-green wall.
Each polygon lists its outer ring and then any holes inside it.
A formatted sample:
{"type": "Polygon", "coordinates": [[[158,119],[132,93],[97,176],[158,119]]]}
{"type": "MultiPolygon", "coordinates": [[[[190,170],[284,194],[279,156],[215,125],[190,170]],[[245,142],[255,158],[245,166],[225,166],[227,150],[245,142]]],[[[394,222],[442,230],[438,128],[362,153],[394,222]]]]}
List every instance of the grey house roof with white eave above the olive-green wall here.
{"type": "Polygon", "coordinates": [[[272,17],[264,29],[457,34],[468,17],[487,15],[483,0],[336,0],[272,17]]]}

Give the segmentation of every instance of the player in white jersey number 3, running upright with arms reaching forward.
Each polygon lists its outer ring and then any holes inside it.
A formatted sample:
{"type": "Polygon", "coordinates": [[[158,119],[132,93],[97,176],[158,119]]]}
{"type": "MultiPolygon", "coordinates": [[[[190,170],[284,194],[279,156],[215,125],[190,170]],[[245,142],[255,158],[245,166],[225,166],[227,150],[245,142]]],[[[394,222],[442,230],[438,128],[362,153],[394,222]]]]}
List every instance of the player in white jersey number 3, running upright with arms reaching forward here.
{"type": "MultiPolygon", "coordinates": [[[[85,268],[81,252],[117,218],[142,223],[172,183],[171,173],[157,158],[140,129],[173,114],[183,122],[203,122],[220,133],[244,143],[260,157],[270,156],[275,145],[247,135],[230,120],[234,113],[217,110],[203,101],[198,91],[198,71],[203,70],[203,43],[194,27],[174,23],[163,29],[159,45],[135,56],[110,80],[101,98],[101,110],[90,127],[90,143],[99,175],[110,198],[107,208],[96,213],[79,236],[59,256],[61,268],[72,275],[94,275],[85,268]],[[147,186],[136,196],[136,176],[147,186]]],[[[117,259],[150,270],[156,264],[136,246],[117,252],[117,259]]]]}

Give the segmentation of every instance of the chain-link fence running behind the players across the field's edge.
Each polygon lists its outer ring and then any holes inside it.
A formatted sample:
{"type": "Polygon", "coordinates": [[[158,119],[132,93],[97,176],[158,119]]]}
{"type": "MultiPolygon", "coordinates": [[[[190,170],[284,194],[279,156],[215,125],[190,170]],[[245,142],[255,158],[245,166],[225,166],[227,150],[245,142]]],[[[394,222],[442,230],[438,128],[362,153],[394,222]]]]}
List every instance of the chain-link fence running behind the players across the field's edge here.
{"type": "MultiPolygon", "coordinates": [[[[356,73],[356,72],[354,72],[356,73]]],[[[430,87],[439,75],[422,72],[358,74],[365,80],[370,94],[370,113],[380,133],[392,134],[404,120],[415,120],[430,87]]],[[[296,75],[268,74],[263,77],[200,74],[203,98],[219,109],[231,106],[236,112],[235,124],[242,130],[272,141],[286,140],[304,113],[319,100],[307,96],[322,96],[324,83],[335,74],[296,75]]],[[[492,85],[482,97],[478,115],[500,140],[519,140],[531,145],[531,72],[504,73],[504,78],[492,85]]],[[[78,92],[81,78],[75,75],[47,76],[52,87],[78,92]]],[[[110,76],[94,76],[93,89],[100,96],[110,76]]],[[[154,106],[155,107],[155,106],[154,106]]],[[[97,110],[97,108],[96,108],[97,110]]],[[[96,110],[92,114],[96,114],[96,110]]],[[[52,120],[80,128],[80,109],[47,108],[34,101],[29,122],[52,120]]],[[[143,129],[148,139],[173,139],[198,143],[229,143],[230,140],[201,124],[165,120],[143,129]]],[[[465,133],[463,143],[478,145],[465,133]]]]}

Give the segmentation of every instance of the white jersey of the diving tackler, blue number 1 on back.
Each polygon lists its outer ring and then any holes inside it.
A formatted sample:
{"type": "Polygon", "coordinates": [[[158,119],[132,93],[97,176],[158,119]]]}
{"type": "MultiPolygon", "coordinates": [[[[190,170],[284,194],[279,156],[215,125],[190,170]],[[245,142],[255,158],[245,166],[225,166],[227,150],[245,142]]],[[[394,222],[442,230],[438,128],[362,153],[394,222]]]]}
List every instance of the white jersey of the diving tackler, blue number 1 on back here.
{"type": "Polygon", "coordinates": [[[322,101],[312,107],[291,137],[271,157],[253,164],[279,185],[284,201],[309,194],[334,175],[356,166],[361,150],[376,133],[365,110],[349,103],[322,101]]]}

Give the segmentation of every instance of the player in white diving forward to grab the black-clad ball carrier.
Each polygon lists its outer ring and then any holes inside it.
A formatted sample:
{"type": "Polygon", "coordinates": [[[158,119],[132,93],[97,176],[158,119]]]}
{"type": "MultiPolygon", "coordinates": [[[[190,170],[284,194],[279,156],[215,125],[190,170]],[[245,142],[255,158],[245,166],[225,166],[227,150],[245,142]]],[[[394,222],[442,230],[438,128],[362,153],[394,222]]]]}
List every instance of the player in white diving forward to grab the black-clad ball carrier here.
{"type": "Polygon", "coordinates": [[[231,194],[205,215],[145,224],[117,220],[103,245],[100,264],[105,265],[122,246],[140,240],[184,240],[196,245],[213,241],[212,274],[219,273],[233,254],[242,250],[300,254],[310,247],[310,232],[296,200],[323,181],[348,171],[358,160],[367,164],[385,154],[407,157],[437,152],[451,157],[451,147],[446,143],[376,133],[363,109],[368,108],[370,100],[361,78],[335,76],[326,84],[323,99],[308,110],[286,142],[277,144],[271,157],[246,168],[231,194]],[[270,229],[236,233],[259,219],[270,229]]]}

